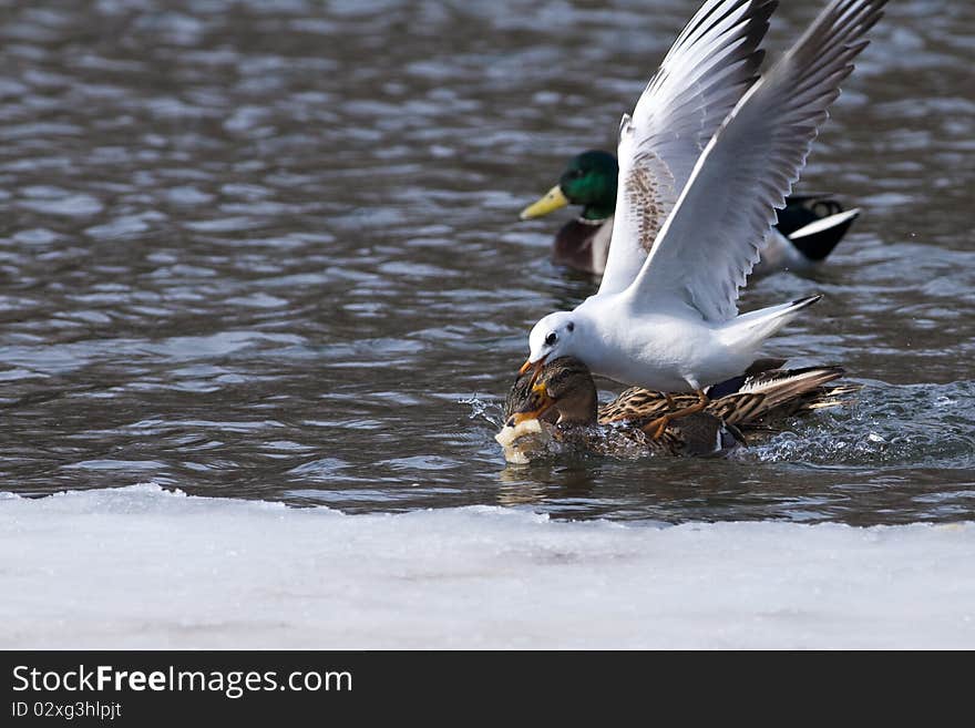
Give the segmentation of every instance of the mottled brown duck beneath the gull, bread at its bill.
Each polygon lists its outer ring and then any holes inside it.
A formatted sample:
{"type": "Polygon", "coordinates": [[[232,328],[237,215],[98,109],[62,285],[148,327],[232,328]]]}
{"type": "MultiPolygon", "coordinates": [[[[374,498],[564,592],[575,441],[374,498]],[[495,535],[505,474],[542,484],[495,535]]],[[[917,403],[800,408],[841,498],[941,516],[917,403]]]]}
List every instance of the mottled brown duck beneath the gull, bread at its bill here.
{"type": "Polygon", "coordinates": [[[852,386],[827,387],[845,372],[840,367],[782,369],[781,359],[757,361],[746,373],[715,384],[702,412],[667,422],[668,413],[697,401],[695,394],[667,394],[639,387],[598,403],[589,369],[563,357],[546,363],[534,379],[517,378],[504,403],[497,441],[512,462],[527,462],[555,440],[592,452],[618,449],[617,438],[647,452],[701,455],[745,444],[746,434],[770,422],[843,403],[852,386]]]}

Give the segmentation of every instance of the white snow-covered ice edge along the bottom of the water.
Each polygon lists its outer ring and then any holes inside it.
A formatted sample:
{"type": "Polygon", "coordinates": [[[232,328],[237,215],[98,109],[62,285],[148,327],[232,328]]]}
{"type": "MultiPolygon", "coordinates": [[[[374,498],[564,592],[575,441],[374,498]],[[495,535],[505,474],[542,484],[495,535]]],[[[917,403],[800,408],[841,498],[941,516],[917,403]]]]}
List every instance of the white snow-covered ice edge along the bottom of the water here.
{"type": "Polygon", "coordinates": [[[975,523],[0,493],[0,648],[967,648],[975,523]]]}

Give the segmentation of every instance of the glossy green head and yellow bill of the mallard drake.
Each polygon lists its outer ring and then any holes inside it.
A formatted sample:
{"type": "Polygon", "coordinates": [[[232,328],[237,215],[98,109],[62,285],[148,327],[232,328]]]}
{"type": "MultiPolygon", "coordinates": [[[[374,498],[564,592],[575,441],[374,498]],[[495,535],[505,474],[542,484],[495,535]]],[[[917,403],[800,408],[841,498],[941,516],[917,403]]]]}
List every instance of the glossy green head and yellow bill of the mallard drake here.
{"type": "Polygon", "coordinates": [[[616,177],[619,166],[608,152],[594,150],[572,157],[552,187],[538,202],[522,211],[522,219],[541,217],[565,207],[582,205],[582,217],[604,221],[616,208],[616,177]]]}

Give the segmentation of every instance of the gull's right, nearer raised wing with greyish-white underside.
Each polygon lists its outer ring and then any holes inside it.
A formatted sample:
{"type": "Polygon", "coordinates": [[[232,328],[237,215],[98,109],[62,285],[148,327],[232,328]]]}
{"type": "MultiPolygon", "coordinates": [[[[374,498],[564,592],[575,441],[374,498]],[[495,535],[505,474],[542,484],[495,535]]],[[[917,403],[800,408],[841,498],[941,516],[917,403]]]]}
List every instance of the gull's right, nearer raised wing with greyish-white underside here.
{"type": "Polygon", "coordinates": [[[799,178],[827,109],[886,0],[833,0],[741,99],[711,139],[629,294],[642,308],[738,314],[776,209],[799,178]]]}

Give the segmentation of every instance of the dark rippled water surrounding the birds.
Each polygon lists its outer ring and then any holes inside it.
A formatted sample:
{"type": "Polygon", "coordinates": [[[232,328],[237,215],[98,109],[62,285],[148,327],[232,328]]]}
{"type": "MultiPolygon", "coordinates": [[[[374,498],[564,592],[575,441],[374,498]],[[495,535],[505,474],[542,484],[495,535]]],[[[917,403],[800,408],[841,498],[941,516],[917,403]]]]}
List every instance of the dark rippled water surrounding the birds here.
{"type": "MultiPolygon", "coordinates": [[[[770,48],[819,8],[783,2],[770,48]]],[[[516,222],[697,0],[0,2],[3,490],[349,512],[854,524],[975,514],[975,4],[891,3],[801,188],[864,214],[769,353],[850,408],[728,461],[505,468],[497,399],[593,281],[516,222]]]]}

